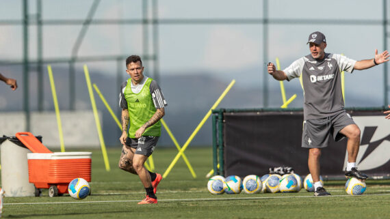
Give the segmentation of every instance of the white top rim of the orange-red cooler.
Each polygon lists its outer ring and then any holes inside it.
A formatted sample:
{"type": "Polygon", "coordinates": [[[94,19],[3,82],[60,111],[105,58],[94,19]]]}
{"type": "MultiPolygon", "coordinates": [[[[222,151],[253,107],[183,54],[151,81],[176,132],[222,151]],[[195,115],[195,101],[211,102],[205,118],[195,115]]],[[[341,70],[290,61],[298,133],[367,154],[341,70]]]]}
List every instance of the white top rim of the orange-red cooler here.
{"type": "Polygon", "coordinates": [[[60,160],[60,159],[85,159],[91,158],[92,152],[54,152],[54,153],[29,153],[28,160],[60,160]]]}

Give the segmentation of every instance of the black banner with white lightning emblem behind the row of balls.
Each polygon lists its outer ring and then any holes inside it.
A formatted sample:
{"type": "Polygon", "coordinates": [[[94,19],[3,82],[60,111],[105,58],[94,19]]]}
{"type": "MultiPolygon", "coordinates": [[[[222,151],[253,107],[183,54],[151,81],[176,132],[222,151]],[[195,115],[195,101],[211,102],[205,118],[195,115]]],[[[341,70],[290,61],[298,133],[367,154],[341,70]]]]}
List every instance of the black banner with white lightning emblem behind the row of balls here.
{"type": "MultiPolygon", "coordinates": [[[[390,121],[382,111],[348,111],[361,129],[356,164],[369,177],[390,176],[390,121]]],[[[270,167],[291,166],[299,175],[309,174],[308,149],[301,147],[302,111],[224,113],[224,173],[264,175],[270,167]]],[[[322,149],[324,179],[345,179],[346,138],[329,140],[322,149]]]]}

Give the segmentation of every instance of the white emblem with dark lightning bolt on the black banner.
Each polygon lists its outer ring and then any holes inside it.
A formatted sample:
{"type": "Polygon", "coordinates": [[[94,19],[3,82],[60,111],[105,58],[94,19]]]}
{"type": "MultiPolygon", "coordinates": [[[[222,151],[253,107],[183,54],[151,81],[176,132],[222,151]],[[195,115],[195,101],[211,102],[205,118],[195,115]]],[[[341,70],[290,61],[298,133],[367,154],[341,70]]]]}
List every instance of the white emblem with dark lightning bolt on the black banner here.
{"type": "MultiPolygon", "coordinates": [[[[376,169],[390,160],[390,129],[383,116],[354,116],[354,122],[361,129],[361,145],[356,158],[360,171],[376,169]]],[[[343,170],[347,166],[348,153],[343,170]]]]}

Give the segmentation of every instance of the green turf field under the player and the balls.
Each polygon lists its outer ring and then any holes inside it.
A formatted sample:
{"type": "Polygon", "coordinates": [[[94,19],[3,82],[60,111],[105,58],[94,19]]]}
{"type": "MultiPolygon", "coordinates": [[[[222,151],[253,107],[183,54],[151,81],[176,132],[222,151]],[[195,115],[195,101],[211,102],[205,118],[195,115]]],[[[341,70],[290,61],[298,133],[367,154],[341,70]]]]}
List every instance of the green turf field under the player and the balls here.
{"type": "MultiPolygon", "coordinates": [[[[86,150],[91,151],[91,150],[86,150]]],[[[390,181],[367,180],[362,196],[350,196],[344,181],[325,181],[333,196],[314,197],[301,190],[289,194],[222,194],[207,191],[211,147],[190,147],[185,155],[198,176],[192,178],[182,159],[158,186],[157,205],[137,205],[144,189],[137,176],[117,168],[120,148],[108,149],[111,171],[92,150],[92,195],[77,201],[68,194],[50,198],[5,197],[3,218],[390,218],[390,181]]],[[[164,173],[177,149],[157,148],[156,171],[164,173]]],[[[303,175],[304,173],[301,173],[303,175]]]]}

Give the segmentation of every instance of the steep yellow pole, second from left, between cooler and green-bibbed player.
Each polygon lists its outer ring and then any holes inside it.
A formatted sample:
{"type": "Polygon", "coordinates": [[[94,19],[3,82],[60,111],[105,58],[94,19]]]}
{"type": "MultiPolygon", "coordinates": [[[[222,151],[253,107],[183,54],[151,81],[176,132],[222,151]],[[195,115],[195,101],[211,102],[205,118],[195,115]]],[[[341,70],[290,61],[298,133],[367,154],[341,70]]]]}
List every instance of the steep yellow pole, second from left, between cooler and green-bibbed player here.
{"type": "Polygon", "coordinates": [[[101,131],[101,125],[100,125],[99,115],[98,115],[98,113],[97,113],[96,102],[95,102],[95,98],[94,98],[94,91],[92,91],[90,73],[88,72],[87,65],[84,65],[84,74],[86,75],[86,81],[87,81],[88,92],[90,93],[92,111],[94,111],[94,117],[95,117],[95,123],[96,123],[96,130],[97,130],[97,132],[98,132],[98,134],[99,134],[99,141],[100,141],[100,145],[101,145],[101,151],[102,151],[102,153],[103,153],[103,159],[104,159],[104,164],[105,164],[105,170],[106,170],[106,171],[109,171],[109,162],[108,162],[107,151],[106,151],[106,149],[105,149],[105,143],[104,143],[104,139],[103,139],[103,132],[101,131]]]}

